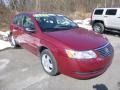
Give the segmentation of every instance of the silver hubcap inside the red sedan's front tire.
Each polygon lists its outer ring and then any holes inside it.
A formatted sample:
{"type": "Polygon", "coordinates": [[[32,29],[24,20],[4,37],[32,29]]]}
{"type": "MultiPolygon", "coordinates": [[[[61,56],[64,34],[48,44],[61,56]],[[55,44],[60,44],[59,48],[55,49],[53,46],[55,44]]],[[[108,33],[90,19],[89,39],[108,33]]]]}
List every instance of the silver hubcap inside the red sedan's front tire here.
{"type": "Polygon", "coordinates": [[[42,56],[42,65],[47,72],[51,72],[53,70],[53,63],[49,55],[44,54],[42,56]]]}

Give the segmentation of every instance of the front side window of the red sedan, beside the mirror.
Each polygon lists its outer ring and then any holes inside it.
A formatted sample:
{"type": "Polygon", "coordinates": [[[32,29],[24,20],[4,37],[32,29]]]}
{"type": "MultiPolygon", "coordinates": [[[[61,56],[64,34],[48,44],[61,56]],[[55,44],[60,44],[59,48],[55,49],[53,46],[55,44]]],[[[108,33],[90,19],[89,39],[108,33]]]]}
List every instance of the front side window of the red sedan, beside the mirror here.
{"type": "Polygon", "coordinates": [[[32,21],[32,19],[28,16],[23,16],[23,27],[24,28],[29,28],[29,29],[35,29],[34,23],[32,21]]]}

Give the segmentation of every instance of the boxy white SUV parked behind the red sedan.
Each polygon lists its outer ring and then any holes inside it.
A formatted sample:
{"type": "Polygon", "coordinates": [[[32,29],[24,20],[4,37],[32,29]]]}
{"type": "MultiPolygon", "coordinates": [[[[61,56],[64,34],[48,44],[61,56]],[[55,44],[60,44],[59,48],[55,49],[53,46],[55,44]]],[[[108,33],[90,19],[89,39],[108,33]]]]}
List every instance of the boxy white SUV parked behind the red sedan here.
{"type": "Polygon", "coordinates": [[[103,33],[104,30],[120,31],[120,8],[96,8],[91,16],[93,30],[103,33]]]}

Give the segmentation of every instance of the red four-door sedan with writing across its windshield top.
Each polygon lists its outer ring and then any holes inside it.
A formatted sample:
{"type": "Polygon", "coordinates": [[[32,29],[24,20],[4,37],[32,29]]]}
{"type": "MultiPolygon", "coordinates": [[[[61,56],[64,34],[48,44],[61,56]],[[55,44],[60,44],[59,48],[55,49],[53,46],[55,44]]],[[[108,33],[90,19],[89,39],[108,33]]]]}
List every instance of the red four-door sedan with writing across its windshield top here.
{"type": "Polygon", "coordinates": [[[49,75],[59,73],[88,79],[101,75],[112,62],[114,50],[103,35],[79,28],[60,14],[20,13],[10,24],[9,40],[40,57],[49,75]]]}

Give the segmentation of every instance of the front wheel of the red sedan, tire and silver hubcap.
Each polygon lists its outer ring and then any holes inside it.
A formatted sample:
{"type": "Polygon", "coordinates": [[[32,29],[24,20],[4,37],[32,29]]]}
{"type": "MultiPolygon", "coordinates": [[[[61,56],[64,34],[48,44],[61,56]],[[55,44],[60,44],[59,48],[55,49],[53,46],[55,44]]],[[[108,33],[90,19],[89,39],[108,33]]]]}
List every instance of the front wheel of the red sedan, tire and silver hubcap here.
{"type": "Polygon", "coordinates": [[[40,59],[42,67],[47,74],[51,76],[56,76],[59,74],[57,62],[48,49],[45,49],[41,52],[40,59]]]}

